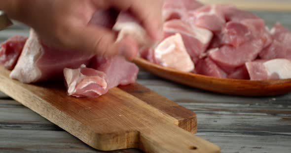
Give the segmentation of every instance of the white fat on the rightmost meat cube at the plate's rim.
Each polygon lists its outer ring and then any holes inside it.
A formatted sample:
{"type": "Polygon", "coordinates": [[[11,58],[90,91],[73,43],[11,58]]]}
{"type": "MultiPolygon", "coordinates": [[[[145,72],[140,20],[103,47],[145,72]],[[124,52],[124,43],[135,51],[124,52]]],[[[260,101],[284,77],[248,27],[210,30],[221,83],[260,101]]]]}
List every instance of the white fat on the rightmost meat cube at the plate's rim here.
{"type": "Polygon", "coordinates": [[[268,76],[277,74],[280,79],[291,78],[291,61],[288,59],[273,59],[263,63],[268,76]]]}

